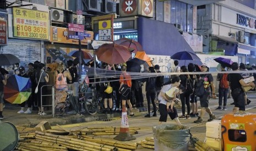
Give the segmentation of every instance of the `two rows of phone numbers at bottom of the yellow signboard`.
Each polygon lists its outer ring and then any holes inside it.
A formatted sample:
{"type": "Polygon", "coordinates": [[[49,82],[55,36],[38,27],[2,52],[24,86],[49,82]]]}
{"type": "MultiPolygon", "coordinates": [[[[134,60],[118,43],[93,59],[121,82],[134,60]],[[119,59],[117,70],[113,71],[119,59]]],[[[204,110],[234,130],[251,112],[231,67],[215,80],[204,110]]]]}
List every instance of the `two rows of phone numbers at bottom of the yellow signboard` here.
{"type": "Polygon", "coordinates": [[[17,25],[16,30],[18,37],[48,39],[47,28],[45,27],[17,25]]]}

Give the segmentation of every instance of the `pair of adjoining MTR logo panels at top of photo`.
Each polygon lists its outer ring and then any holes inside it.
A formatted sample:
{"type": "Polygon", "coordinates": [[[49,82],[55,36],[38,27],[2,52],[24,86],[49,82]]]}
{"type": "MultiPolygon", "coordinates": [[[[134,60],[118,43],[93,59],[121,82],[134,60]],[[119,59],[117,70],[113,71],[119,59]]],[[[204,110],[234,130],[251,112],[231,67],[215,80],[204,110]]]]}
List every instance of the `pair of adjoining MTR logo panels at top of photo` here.
{"type": "Polygon", "coordinates": [[[120,16],[146,16],[153,17],[153,0],[121,0],[120,16]]]}

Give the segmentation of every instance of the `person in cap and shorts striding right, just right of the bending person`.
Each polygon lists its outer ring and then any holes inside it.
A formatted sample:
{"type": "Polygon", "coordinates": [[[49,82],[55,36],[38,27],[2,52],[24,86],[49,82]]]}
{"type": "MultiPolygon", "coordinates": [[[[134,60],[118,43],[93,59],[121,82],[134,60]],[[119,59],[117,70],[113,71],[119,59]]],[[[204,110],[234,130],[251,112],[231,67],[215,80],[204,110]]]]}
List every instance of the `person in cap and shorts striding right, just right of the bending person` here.
{"type": "MultiPolygon", "coordinates": [[[[203,63],[203,65],[201,65],[201,71],[209,72],[208,65],[203,63]]],[[[212,92],[212,97],[216,98],[213,75],[201,74],[199,77],[199,80],[201,82],[198,81],[197,88],[195,89],[195,93],[197,96],[200,97],[201,113],[198,119],[194,121],[194,123],[202,123],[205,112],[207,112],[210,115],[210,118],[208,119],[208,121],[213,121],[216,117],[213,114],[213,112],[211,112],[211,109],[209,108],[210,93],[212,92]],[[200,89],[200,91],[197,91],[197,89],[199,87],[201,88],[202,85],[204,86],[204,90],[200,89]],[[203,93],[199,95],[199,92],[203,92],[203,93]]]]}

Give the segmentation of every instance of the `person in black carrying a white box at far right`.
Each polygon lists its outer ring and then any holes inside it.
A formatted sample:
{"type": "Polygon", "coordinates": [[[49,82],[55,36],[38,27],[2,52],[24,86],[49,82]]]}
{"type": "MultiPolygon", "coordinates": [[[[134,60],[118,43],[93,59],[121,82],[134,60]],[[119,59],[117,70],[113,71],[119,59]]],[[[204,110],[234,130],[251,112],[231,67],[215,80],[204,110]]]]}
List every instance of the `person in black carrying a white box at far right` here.
{"type": "MultiPolygon", "coordinates": [[[[231,65],[232,71],[238,71],[238,63],[234,62],[231,65]]],[[[231,95],[235,102],[235,107],[233,108],[233,113],[238,111],[246,111],[246,103],[244,100],[244,91],[242,90],[242,86],[252,86],[255,88],[255,84],[253,82],[244,83],[243,77],[240,73],[230,73],[228,74],[228,82],[230,83],[231,95]]]]}

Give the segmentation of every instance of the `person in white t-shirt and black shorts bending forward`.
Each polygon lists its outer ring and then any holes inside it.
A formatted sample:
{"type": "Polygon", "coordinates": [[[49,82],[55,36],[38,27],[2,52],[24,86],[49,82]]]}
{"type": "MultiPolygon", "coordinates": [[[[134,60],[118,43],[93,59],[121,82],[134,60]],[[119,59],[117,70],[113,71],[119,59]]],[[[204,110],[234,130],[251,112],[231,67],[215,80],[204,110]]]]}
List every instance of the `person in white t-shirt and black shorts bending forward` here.
{"type": "Polygon", "coordinates": [[[170,83],[168,83],[162,87],[162,89],[159,93],[159,96],[158,96],[158,99],[160,101],[160,103],[159,103],[159,113],[160,113],[159,125],[162,124],[162,122],[167,121],[168,115],[172,120],[175,120],[178,125],[182,125],[178,118],[177,109],[173,106],[173,108],[171,110],[171,106],[169,106],[168,107],[169,110],[167,110],[167,106],[166,106],[167,98],[165,97],[165,93],[168,90],[170,90],[173,86],[178,87],[180,83],[181,83],[181,80],[179,79],[179,77],[174,77],[170,83]]]}

